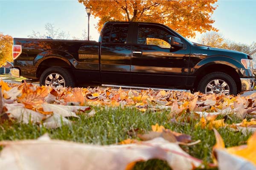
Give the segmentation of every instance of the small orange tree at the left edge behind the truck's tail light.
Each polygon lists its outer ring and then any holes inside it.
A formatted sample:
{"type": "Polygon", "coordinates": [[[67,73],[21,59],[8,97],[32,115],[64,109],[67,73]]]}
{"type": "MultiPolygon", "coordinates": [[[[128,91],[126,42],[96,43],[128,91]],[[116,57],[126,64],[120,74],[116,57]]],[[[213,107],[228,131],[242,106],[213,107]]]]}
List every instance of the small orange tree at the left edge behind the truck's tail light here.
{"type": "Polygon", "coordinates": [[[6,62],[12,62],[12,36],[0,33],[0,67],[6,62]]]}

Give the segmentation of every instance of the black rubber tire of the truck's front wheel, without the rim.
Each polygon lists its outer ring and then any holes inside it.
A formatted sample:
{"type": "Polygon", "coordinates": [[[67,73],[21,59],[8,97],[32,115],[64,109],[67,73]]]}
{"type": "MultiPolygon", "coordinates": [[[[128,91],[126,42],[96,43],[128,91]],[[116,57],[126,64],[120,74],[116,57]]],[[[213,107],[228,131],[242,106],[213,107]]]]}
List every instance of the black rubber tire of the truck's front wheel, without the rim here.
{"type": "Polygon", "coordinates": [[[207,84],[214,79],[220,79],[227,83],[229,86],[229,94],[237,95],[237,87],[235,80],[230,75],[223,72],[213,72],[205,75],[198,83],[197,91],[205,93],[207,84]]]}

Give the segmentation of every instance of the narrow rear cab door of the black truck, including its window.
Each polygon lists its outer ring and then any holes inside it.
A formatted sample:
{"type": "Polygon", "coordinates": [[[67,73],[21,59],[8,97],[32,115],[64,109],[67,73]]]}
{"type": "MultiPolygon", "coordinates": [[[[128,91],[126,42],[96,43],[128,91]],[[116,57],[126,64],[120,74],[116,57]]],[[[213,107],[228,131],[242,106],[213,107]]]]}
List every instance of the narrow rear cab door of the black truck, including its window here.
{"type": "Polygon", "coordinates": [[[131,43],[129,23],[108,23],[102,36],[100,70],[102,84],[129,84],[131,43]]]}

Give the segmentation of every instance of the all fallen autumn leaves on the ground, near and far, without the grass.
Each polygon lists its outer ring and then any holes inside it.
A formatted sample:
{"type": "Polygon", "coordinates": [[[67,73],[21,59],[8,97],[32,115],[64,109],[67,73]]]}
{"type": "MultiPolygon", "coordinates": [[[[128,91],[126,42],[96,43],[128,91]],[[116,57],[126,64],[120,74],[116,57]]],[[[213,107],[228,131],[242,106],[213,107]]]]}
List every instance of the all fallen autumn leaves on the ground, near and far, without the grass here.
{"type": "MultiPolygon", "coordinates": [[[[69,117],[79,121],[81,114],[94,116],[94,106],[110,109],[134,107],[142,114],[166,110],[169,121],[173,123],[186,124],[190,119],[196,119],[198,123],[195,127],[202,129],[227,127],[244,134],[256,131],[256,94],[228,96],[151,89],[54,88],[39,87],[26,82],[18,85],[0,81],[1,121],[10,119],[20,123],[32,122],[47,128],[58,128],[62,125],[72,125],[69,117]],[[235,118],[243,121],[233,124],[226,121],[235,118]]],[[[236,162],[233,169],[242,164],[255,168],[256,160],[253,155],[256,153],[252,143],[256,139],[256,133],[248,140],[247,145],[228,148],[224,147],[217,130],[215,136],[217,142],[213,155],[218,160],[220,169],[229,168],[222,159],[236,162]]],[[[134,133],[134,137],[136,139],[126,139],[109,146],[51,140],[45,136],[38,140],[1,141],[0,145],[5,147],[0,156],[0,169],[64,167],[62,169],[119,170],[132,169],[136,162],[148,159],[166,160],[174,170],[203,167],[202,160],[190,156],[179,146],[181,144],[187,147],[200,142],[194,141],[189,135],[156,124],[152,125],[150,132],[134,133]],[[45,153],[49,154],[45,156],[45,153]],[[66,159],[70,161],[64,161],[66,159]],[[99,160],[101,163],[97,163],[99,160]],[[109,166],[106,167],[105,164],[109,166]]]]}

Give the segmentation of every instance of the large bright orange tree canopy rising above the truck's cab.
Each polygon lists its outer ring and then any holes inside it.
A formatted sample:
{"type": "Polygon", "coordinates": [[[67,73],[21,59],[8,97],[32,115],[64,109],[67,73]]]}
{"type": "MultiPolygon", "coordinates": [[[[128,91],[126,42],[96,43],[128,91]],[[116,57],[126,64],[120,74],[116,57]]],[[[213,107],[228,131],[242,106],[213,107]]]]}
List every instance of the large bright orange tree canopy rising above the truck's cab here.
{"type": "Polygon", "coordinates": [[[78,0],[99,17],[98,29],[107,21],[155,22],[169,26],[185,37],[195,31],[217,31],[211,14],[217,0],[78,0]]]}

